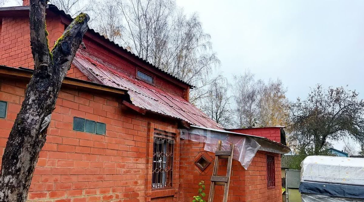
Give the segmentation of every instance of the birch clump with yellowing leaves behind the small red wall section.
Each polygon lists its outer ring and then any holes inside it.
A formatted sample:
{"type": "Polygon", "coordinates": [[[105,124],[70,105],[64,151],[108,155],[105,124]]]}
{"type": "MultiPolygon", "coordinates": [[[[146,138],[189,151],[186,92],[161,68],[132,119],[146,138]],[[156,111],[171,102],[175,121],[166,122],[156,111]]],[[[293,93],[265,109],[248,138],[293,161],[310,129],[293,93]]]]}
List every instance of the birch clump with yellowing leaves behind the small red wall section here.
{"type": "Polygon", "coordinates": [[[281,80],[255,81],[250,72],[234,76],[234,104],[237,127],[285,126],[288,99],[281,80]]]}

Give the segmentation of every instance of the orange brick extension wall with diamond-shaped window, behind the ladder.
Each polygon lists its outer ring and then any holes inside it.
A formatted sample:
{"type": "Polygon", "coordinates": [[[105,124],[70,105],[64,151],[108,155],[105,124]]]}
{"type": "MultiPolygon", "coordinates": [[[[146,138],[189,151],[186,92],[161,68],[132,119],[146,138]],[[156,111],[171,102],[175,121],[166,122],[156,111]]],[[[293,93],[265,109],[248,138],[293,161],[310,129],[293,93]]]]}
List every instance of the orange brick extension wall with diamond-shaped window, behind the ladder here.
{"type": "MultiPolygon", "coordinates": [[[[214,165],[214,153],[203,150],[204,143],[191,140],[181,140],[180,171],[179,171],[179,198],[180,202],[191,201],[198,190],[198,183],[203,180],[206,183],[206,194],[210,190],[210,178],[214,165]],[[195,161],[200,155],[206,157],[211,163],[201,171],[195,161]]],[[[226,175],[227,160],[220,160],[218,175],[226,175]]],[[[222,201],[223,186],[216,186],[214,201],[222,201]]],[[[206,196],[206,199],[208,196],[206,196]]],[[[252,163],[245,170],[240,162],[233,161],[229,186],[229,202],[281,202],[281,157],[280,154],[258,151],[252,163]],[[275,157],[276,187],[267,189],[266,181],[266,155],[275,157]]]]}

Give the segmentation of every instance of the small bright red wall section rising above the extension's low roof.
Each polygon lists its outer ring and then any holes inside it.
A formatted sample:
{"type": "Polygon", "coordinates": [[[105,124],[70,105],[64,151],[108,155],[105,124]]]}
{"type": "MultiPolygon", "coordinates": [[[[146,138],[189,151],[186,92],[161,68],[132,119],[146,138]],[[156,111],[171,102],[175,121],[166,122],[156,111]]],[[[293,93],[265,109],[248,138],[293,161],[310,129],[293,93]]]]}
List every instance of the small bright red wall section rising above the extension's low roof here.
{"type": "Polygon", "coordinates": [[[232,132],[239,132],[242,134],[256,135],[281,142],[281,128],[280,127],[265,127],[265,128],[239,128],[229,129],[232,132]]]}

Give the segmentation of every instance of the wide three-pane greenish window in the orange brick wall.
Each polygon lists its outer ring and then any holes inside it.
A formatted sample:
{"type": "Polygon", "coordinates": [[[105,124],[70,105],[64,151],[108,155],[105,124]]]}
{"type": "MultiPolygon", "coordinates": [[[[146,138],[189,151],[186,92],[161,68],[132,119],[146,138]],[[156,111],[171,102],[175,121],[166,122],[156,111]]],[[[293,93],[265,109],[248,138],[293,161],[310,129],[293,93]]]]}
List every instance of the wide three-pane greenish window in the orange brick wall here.
{"type": "Polygon", "coordinates": [[[73,118],[73,130],[81,132],[89,132],[98,135],[106,134],[106,124],[96,122],[94,120],[83,119],[79,117],[73,118]]]}

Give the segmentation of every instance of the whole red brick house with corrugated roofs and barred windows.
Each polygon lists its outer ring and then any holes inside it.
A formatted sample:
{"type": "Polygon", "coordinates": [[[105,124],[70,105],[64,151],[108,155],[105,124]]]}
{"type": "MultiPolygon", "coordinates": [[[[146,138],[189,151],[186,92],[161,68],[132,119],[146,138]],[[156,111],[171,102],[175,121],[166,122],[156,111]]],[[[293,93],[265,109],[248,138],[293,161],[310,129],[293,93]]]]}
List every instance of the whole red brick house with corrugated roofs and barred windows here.
{"type": "MultiPolygon", "coordinates": [[[[0,8],[0,155],[32,75],[27,3],[0,8]]],[[[72,18],[48,5],[46,20],[52,47],[72,18]]],[[[289,148],[274,129],[225,131],[188,102],[190,84],[92,29],[83,42],[59,93],[29,201],[191,201],[199,181],[208,192],[214,159],[206,143],[180,138],[198,127],[272,148],[262,146],[247,170],[233,162],[229,201],[281,201],[280,155],[289,148]]],[[[218,187],[215,201],[221,193],[218,187]]]]}

